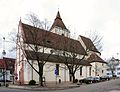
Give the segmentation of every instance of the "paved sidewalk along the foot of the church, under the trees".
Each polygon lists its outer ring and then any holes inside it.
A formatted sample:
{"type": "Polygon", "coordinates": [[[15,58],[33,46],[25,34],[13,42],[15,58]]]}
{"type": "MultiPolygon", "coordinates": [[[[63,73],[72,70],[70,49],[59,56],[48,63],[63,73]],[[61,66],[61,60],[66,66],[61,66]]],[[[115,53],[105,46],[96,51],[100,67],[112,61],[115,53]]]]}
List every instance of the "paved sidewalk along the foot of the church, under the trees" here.
{"type": "Polygon", "coordinates": [[[46,86],[44,87],[39,87],[39,86],[29,86],[29,85],[13,85],[10,84],[8,88],[14,88],[14,89],[23,89],[23,90],[35,90],[35,91],[47,91],[47,90],[64,90],[64,89],[69,89],[69,88],[76,88],[80,87],[80,85],[73,84],[70,82],[67,83],[47,83],[46,86]]]}

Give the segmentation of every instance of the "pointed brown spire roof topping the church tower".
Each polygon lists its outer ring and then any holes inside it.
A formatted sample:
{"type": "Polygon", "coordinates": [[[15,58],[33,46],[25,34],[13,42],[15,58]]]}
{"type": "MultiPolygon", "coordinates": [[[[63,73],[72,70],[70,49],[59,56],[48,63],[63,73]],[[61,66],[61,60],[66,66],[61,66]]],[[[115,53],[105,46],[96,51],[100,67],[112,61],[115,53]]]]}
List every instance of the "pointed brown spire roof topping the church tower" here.
{"type": "MultiPolygon", "coordinates": [[[[54,27],[60,27],[60,28],[62,28],[62,29],[67,29],[66,26],[65,26],[65,24],[64,24],[63,21],[62,21],[62,18],[61,18],[61,16],[60,16],[59,11],[57,12],[56,18],[55,18],[55,20],[54,20],[54,22],[53,22],[50,30],[52,30],[54,27]]],[[[68,30],[68,29],[67,29],[67,30],[68,30]]]]}

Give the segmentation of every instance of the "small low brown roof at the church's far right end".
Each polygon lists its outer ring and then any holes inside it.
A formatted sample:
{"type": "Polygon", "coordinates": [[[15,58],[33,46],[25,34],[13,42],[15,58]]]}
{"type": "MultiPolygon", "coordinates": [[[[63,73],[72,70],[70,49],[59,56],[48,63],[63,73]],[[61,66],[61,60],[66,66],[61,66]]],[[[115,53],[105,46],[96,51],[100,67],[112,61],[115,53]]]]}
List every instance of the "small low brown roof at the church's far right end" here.
{"type": "Polygon", "coordinates": [[[90,55],[87,60],[92,63],[92,62],[99,62],[99,63],[106,63],[102,58],[100,58],[97,54],[93,53],[90,55]]]}

